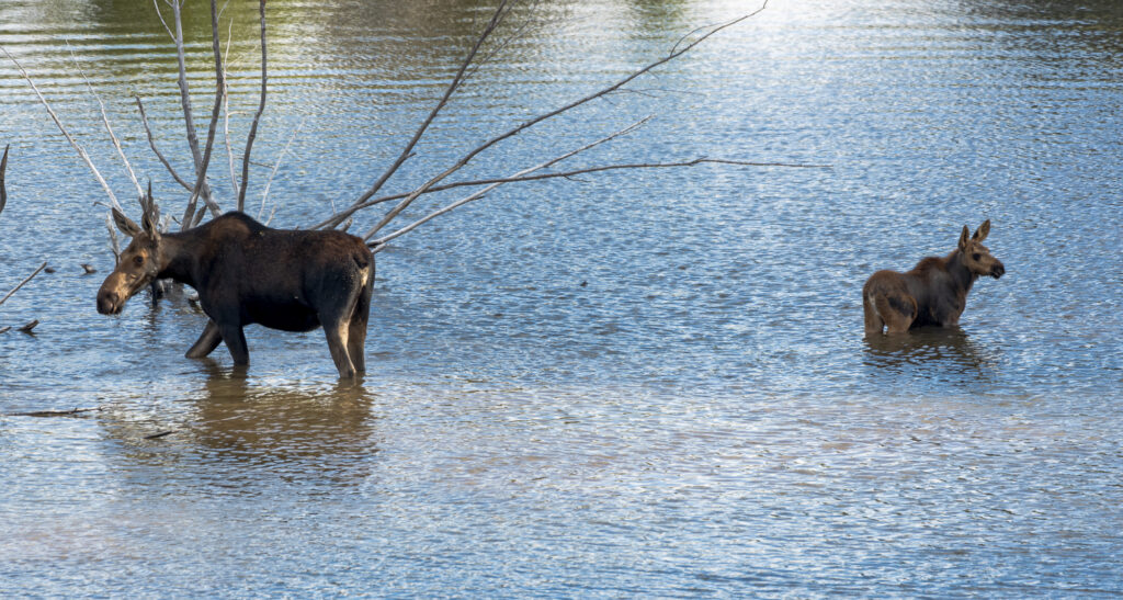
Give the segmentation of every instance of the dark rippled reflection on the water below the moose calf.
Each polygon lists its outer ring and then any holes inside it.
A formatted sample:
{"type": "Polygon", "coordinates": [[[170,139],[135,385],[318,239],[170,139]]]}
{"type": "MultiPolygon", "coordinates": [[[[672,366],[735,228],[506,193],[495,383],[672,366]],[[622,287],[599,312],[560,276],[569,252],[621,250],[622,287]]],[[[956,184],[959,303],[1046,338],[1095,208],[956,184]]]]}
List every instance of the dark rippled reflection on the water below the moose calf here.
{"type": "Polygon", "coordinates": [[[907,335],[867,336],[864,364],[888,373],[929,373],[934,379],[988,380],[998,369],[996,351],[971,340],[959,327],[922,327],[907,335]]]}

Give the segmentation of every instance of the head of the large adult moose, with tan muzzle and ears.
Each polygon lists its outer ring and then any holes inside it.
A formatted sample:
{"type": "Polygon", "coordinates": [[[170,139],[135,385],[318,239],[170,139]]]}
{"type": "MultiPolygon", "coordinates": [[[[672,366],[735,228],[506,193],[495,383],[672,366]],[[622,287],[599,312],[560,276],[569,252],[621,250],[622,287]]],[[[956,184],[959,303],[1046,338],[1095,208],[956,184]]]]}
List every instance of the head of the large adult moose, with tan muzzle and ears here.
{"type": "Polygon", "coordinates": [[[120,312],[129,298],[156,279],[164,263],[161,252],[163,240],[157,226],[159,211],[152,201],[150,190],[148,194],[148,201],[141,201],[145,206],[144,217],[140,219],[143,226],[133,222],[120,210],[112,209],[117,228],[131,237],[133,242],[121,252],[117,267],[98,290],[98,312],[102,315],[120,312]]]}

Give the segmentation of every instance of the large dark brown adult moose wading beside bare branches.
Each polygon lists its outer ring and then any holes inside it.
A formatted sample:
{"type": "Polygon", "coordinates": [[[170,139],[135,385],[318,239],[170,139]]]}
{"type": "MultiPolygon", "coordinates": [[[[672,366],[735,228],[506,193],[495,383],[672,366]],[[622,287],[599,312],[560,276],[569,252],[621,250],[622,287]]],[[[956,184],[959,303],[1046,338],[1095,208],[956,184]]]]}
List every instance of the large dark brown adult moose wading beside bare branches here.
{"type": "Polygon", "coordinates": [[[143,227],[113,209],[133,243],[98,290],[98,312],[116,315],[153,280],[172,279],[194,288],[211,318],[188,357],[207,356],[226,342],[234,363],[248,365],[243,327],[310,331],[322,325],[339,376],[366,371],[374,256],[363,240],[334,230],[271,229],[241,212],[162,234],[155,203],[143,203],[143,227]]]}

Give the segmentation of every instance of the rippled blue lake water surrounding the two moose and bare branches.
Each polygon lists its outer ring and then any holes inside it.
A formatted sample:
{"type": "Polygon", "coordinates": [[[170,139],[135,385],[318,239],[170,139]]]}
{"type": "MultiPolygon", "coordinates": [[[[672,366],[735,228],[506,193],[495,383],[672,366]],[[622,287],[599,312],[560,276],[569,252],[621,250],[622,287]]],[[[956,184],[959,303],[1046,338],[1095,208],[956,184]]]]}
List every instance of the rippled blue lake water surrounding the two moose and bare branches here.
{"type": "MultiPolygon", "coordinates": [[[[255,7],[234,4],[240,147],[258,55],[255,7]]],[[[521,37],[386,191],[754,8],[520,9],[502,33],[521,37]]],[[[188,9],[206,127],[208,16],[188,9]]],[[[249,207],[292,139],[264,215],[307,227],[393,161],[491,7],[268,11],[249,207]]],[[[182,211],[133,103],[145,98],[186,172],[174,53],[150,3],[8,0],[0,45],[137,218],[80,62],[165,213],[182,211]]],[[[0,334],[0,596],[1123,593],[1120,56],[1114,0],[774,1],[463,178],[509,175],[647,115],[564,165],[830,169],[501,188],[377,255],[359,387],[338,384],[320,331],[247,329],[240,375],[225,347],[183,357],[204,317],[180,294],[98,315],[106,196],[4,57],[0,293],[44,261],[55,272],[0,306],[0,327],[42,321],[0,334]],[[976,284],[961,329],[864,339],[870,273],[943,255],[987,218],[1007,274],[976,284]],[[73,408],[97,410],[19,415],[73,408]]],[[[230,208],[221,133],[216,151],[211,184],[230,208]]]]}

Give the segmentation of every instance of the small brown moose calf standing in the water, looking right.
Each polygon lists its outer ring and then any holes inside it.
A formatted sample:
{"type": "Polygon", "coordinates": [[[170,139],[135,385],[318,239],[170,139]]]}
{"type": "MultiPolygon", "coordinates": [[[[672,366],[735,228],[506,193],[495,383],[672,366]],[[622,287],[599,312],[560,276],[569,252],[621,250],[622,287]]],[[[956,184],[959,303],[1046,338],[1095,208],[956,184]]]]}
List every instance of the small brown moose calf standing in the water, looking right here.
{"type": "Polygon", "coordinates": [[[967,292],[980,275],[998,279],[1002,262],[983,245],[990,233],[987,219],[968,237],[964,226],[959,246],[948,256],[929,256],[907,273],[878,271],[861,289],[866,335],[903,334],[925,325],[955,327],[967,308],[967,292]]]}

